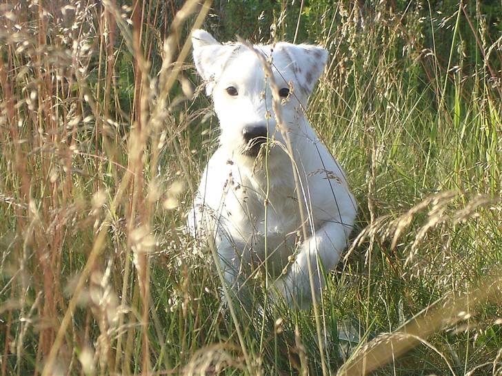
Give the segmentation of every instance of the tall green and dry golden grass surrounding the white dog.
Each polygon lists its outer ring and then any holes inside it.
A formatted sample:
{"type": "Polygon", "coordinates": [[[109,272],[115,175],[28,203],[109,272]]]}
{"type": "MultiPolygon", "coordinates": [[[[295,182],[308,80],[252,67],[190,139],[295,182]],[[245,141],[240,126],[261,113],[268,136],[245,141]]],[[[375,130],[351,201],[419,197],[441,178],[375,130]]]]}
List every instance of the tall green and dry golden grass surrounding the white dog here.
{"type": "Polygon", "coordinates": [[[497,1],[3,1],[0,375],[502,375],[501,50],[497,1]],[[315,311],[231,315],[183,233],[201,27],[330,50],[360,207],[315,311]]]}

